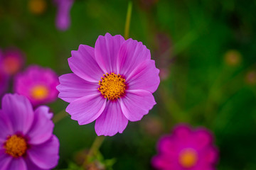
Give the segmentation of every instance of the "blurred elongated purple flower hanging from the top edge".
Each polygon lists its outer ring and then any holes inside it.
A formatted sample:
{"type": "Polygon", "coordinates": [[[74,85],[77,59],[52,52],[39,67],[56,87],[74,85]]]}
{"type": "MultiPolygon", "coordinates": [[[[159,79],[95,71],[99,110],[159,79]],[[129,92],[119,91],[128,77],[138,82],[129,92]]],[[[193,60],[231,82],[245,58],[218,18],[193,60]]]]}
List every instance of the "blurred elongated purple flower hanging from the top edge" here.
{"type": "Polygon", "coordinates": [[[70,9],[73,6],[74,0],[54,0],[57,6],[57,15],[55,26],[58,30],[68,30],[70,27],[70,9]]]}

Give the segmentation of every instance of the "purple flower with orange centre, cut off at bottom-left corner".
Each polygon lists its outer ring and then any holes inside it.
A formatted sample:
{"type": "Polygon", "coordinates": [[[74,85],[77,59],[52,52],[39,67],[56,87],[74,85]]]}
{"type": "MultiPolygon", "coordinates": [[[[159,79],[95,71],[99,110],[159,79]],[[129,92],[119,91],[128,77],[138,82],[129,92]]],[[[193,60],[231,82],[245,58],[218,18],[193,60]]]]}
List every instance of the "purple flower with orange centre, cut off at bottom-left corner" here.
{"type": "Polygon", "coordinates": [[[43,170],[58,164],[58,138],[47,106],[33,111],[25,96],[6,94],[0,110],[2,170],[43,170]]]}

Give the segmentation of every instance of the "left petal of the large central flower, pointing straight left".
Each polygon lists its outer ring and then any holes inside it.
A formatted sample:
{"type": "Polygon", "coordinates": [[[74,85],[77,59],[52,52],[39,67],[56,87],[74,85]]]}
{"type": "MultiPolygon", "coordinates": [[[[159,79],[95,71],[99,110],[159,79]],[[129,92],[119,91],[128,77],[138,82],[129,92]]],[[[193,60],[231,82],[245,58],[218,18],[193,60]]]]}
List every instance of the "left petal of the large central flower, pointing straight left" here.
{"type": "Polygon", "coordinates": [[[59,80],[60,85],[56,87],[60,91],[58,97],[69,103],[83,96],[99,93],[98,84],[85,81],[73,73],[64,74],[59,80]]]}

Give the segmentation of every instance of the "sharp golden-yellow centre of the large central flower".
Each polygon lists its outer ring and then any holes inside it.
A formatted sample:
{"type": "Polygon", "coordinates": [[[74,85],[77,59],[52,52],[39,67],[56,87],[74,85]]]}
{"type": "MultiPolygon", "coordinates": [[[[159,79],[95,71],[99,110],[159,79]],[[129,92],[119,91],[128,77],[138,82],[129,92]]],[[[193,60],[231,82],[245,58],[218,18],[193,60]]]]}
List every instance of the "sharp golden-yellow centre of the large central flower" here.
{"type": "Polygon", "coordinates": [[[99,81],[100,93],[109,100],[116,100],[124,95],[126,88],[125,79],[120,74],[103,74],[101,81],[99,81]]]}

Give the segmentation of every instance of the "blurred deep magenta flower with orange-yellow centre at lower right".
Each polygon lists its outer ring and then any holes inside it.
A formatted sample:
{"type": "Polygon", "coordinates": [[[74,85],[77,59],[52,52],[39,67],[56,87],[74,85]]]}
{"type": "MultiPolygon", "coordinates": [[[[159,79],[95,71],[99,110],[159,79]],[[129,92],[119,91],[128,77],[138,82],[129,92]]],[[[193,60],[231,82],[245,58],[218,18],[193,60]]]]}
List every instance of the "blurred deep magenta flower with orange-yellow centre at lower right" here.
{"type": "Polygon", "coordinates": [[[213,135],[204,128],[191,130],[188,125],[178,125],[172,135],[162,137],[158,151],[152,164],[162,170],[213,170],[218,160],[213,135]]]}

